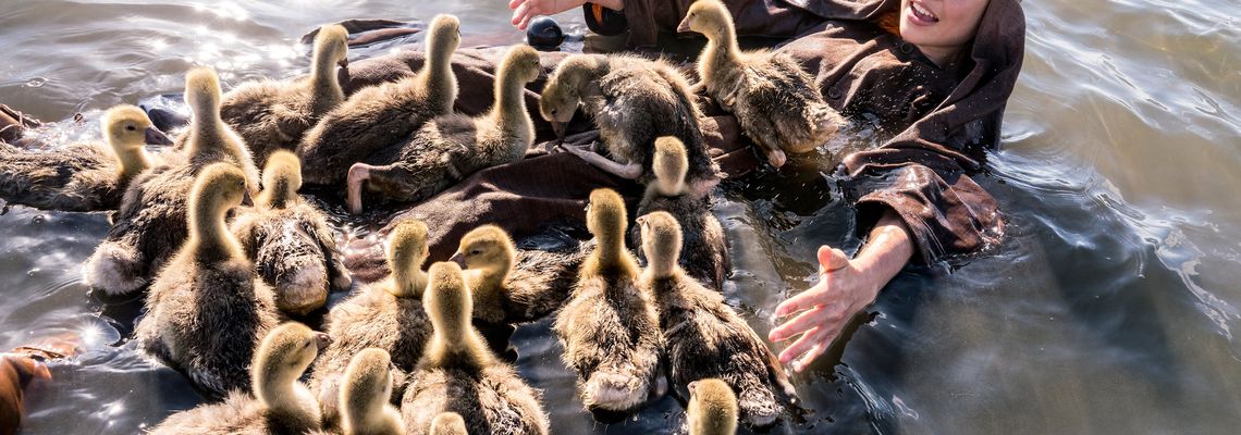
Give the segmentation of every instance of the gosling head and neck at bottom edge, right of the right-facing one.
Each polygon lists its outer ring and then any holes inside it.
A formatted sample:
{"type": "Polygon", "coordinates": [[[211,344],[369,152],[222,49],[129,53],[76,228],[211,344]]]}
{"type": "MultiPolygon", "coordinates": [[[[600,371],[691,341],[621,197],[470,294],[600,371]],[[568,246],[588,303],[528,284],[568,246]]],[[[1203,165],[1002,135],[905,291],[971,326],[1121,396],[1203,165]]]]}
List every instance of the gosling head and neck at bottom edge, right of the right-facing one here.
{"type": "Polygon", "coordinates": [[[374,347],[362,349],[349,362],[339,404],[345,434],[405,434],[400,413],[388,403],[391,367],[388,353],[374,347]]]}

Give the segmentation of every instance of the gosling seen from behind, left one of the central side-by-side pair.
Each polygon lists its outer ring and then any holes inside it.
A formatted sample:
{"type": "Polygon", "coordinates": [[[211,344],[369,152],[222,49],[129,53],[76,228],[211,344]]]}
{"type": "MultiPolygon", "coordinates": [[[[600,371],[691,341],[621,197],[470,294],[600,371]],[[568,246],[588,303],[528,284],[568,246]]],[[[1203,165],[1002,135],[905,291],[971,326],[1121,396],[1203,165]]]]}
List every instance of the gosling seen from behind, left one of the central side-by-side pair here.
{"type": "Polygon", "coordinates": [[[597,245],[552,326],[592,413],[629,413],[666,388],[656,379],[664,346],[659,317],[638,279],[638,261],[624,248],[627,218],[614,191],[591,192],[586,222],[597,245]]]}

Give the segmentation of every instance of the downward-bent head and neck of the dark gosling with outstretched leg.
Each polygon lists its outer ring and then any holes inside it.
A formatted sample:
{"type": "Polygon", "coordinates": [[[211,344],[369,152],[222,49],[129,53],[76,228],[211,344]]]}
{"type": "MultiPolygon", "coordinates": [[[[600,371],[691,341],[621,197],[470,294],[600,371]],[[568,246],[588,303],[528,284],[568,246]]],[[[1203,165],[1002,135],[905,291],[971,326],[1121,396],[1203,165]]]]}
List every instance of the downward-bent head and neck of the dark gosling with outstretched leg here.
{"type": "Polygon", "coordinates": [[[552,124],[556,136],[565,139],[565,126],[573,119],[582,103],[582,89],[601,76],[606,59],[597,55],[575,55],[565,58],[547,78],[539,98],[539,113],[552,124]]]}

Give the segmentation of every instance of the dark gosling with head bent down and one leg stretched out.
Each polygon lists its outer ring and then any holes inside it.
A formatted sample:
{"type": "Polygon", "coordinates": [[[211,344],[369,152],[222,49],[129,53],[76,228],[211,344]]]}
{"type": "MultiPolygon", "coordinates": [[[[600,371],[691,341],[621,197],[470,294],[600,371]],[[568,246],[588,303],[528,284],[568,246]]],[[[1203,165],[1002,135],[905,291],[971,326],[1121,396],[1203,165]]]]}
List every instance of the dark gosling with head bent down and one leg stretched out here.
{"type": "Polygon", "coordinates": [[[707,156],[699,126],[702,114],[685,77],[666,62],[634,56],[570,56],[547,79],[539,110],[563,139],[565,125],[578,105],[599,128],[599,140],[611,159],[596,152],[598,143],[563,147],[591,165],[649,183],[654,177],[650,159],[655,138],[676,136],[689,152],[686,180],[695,196],[706,195],[719,183],[719,167],[707,156]]]}

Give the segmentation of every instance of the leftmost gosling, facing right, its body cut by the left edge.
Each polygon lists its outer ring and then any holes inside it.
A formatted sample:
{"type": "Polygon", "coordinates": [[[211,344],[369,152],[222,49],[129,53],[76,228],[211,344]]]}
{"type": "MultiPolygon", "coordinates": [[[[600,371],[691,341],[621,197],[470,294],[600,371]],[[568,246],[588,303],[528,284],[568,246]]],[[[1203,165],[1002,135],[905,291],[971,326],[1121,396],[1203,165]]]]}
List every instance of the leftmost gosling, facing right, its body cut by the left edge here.
{"type": "Polygon", "coordinates": [[[62,212],[117,209],[129,182],[160,161],[146,154],[146,135],[163,133],[128,104],[108,109],[99,124],[104,144],[72,144],[52,152],[0,141],[0,198],[62,212]]]}

